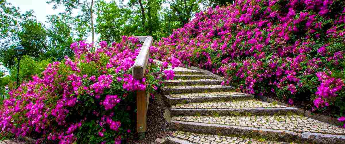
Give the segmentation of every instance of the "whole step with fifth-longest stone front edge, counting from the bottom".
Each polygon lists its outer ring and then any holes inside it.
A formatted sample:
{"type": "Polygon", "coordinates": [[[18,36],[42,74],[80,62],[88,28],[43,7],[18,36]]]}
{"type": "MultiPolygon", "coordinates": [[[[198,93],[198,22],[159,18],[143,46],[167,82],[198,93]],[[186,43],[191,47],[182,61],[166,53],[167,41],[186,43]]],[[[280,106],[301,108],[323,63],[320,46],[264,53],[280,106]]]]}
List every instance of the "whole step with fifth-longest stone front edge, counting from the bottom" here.
{"type": "Polygon", "coordinates": [[[198,79],[198,80],[164,80],[166,86],[183,86],[183,85],[220,85],[221,81],[215,79],[198,79]]]}

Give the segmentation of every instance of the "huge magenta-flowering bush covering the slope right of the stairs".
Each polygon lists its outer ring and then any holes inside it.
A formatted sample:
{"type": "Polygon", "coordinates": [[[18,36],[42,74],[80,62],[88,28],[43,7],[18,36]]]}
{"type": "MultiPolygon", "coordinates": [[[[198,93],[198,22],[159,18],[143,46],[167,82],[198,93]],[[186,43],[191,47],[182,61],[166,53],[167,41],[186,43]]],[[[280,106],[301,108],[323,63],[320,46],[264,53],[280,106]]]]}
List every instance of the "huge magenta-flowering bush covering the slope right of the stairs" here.
{"type": "Polygon", "coordinates": [[[157,43],[156,56],[224,75],[245,93],[309,101],[345,121],[344,27],[344,0],[236,0],[196,13],[157,43]]]}

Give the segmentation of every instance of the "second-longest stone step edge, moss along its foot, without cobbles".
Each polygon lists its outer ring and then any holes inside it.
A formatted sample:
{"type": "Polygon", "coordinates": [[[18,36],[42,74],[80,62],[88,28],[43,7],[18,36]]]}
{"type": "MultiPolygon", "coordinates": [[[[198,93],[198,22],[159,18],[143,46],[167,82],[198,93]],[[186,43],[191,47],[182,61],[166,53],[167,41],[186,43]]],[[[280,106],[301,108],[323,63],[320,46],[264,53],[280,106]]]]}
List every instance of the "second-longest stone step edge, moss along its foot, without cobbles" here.
{"type": "Polygon", "coordinates": [[[240,108],[240,109],[175,109],[171,108],[171,116],[185,115],[193,116],[199,114],[200,116],[212,115],[218,113],[220,116],[231,115],[231,113],[251,113],[251,114],[271,114],[297,112],[294,107],[258,107],[258,108],[240,108]]]}

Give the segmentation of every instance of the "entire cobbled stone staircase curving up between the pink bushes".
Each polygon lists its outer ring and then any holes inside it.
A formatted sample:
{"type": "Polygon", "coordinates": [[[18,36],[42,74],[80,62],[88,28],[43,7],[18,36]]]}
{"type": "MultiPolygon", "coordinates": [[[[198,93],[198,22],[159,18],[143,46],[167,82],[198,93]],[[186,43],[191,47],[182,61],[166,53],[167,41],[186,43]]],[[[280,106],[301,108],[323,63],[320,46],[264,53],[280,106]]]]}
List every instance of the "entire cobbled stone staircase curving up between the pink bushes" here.
{"type": "Polygon", "coordinates": [[[305,117],[297,108],[235,92],[202,71],[174,71],[161,94],[175,132],[156,143],[345,143],[345,129],[305,117]]]}

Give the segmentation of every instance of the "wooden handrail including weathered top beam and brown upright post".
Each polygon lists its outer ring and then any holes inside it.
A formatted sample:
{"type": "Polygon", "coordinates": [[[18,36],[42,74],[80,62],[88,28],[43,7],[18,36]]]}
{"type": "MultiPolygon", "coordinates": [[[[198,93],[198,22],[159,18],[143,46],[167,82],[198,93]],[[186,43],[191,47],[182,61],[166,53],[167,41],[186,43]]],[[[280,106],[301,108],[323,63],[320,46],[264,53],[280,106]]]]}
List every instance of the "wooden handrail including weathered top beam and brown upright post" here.
{"type": "MultiPolygon", "coordinates": [[[[153,38],[150,36],[134,36],[139,41],[144,42],[140,49],[140,52],[135,59],[133,65],[133,78],[142,79],[145,77],[146,66],[149,65],[148,59],[150,58],[150,47],[152,46],[153,38]]],[[[147,109],[149,104],[149,93],[144,91],[137,91],[137,132],[139,138],[145,138],[145,132],[147,128],[147,109]]]]}

